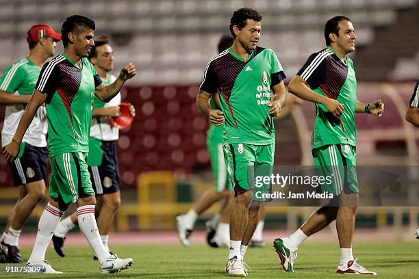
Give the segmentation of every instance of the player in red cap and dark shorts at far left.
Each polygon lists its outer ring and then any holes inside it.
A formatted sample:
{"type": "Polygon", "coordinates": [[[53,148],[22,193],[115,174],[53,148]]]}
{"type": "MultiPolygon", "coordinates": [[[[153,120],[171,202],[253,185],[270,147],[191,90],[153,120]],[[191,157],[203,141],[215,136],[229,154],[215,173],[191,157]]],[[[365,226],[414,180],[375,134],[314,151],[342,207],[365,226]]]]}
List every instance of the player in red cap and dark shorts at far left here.
{"type": "MultiPolygon", "coordinates": [[[[10,142],[23,115],[26,104],[34,93],[40,69],[45,60],[54,55],[55,42],[61,40],[48,25],[34,25],[26,34],[29,55],[9,66],[0,79],[0,104],[5,105],[5,120],[1,131],[1,146],[10,142]]],[[[19,188],[19,199],[8,217],[8,224],[0,243],[1,263],[23,263],[18,241],[21,228],[36,204],[45,196],[47,177],[47,113],[42,105],[22,139],[21,152],[9,163],[14,186],[19,188]]]]}

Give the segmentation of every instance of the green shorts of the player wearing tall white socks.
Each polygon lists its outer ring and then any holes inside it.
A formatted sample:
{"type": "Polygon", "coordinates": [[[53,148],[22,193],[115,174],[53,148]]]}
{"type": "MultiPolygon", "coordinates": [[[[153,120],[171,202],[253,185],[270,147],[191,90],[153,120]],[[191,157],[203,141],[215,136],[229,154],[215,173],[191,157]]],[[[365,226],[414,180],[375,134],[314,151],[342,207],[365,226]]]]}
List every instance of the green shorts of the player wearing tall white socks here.
{"type": "Polygon", "coordinates": [[[75,203],[79,198],[94,196],[88,172],[87,153],[71,152],[55,155],[51,160],[49,196],[75,203]]]}

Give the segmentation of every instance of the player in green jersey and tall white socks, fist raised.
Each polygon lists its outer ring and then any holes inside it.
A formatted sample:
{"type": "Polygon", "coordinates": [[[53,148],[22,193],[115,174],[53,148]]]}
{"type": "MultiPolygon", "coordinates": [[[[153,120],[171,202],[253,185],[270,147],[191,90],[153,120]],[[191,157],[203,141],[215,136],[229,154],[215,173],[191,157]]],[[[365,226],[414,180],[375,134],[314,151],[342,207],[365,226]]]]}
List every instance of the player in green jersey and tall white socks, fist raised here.
{"type": "Polygon", "coordinates": [[[36,109],[47,103],[49,125],[48,152],[51,161],[49,196],[38,224],[34,249],[29,266],[42,266],[45,273],[59,273],[45,261],[45,251],[60,217],[71,203],[77,204],[79,227],[99,258],[102,273],[114,273],[132,264],[131,258],[111,255],[103,245],[94,218],[96,199],[90,182],[87,155],[94,95],[110,101],[127,79],[136,75],[136,67],[129,63],[118,79],[103,85],[88,55],[94,46],[94,21],[84,16],[69,16],[61,29],[64,53],[42,67],[36,90],[18,124],[12,142],[3,155],[13,161],[36,109]]]}

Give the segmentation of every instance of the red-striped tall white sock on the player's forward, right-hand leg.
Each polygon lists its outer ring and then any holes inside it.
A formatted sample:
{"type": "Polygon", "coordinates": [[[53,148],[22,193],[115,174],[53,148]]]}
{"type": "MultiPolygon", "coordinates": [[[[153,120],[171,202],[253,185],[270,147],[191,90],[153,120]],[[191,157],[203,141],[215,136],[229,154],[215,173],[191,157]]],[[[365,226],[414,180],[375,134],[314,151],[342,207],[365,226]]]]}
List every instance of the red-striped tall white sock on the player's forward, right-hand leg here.
{"type": "Polygon", "coordinates": [[[77,208],[77,220],[90,247],[93,249],[94,254],[97,255],[99,263],[105,263],[110,254],[107,252],[99,235],[99,229],[94,218],[94,205],[84,205],[83,207],[77,208]]]}

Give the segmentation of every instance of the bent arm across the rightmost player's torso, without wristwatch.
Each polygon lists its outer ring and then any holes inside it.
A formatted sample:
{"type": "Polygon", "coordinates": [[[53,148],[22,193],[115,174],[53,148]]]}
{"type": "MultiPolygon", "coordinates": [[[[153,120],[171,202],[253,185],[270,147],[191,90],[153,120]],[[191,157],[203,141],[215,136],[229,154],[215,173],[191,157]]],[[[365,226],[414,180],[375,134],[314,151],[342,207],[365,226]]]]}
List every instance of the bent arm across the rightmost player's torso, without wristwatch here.
{"type": "Polygon", "coordinates": [[[288,91],[303,100],[325,105],[327,111],[335,117],[339,117],[343,113],[344,105],[333,98],[327,98],[327,96],[314,92],[307,81],[298,75],[290,81],[288,91]]]}

